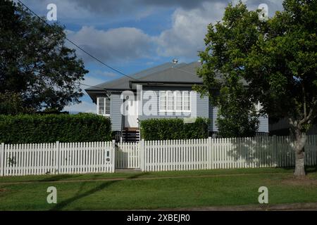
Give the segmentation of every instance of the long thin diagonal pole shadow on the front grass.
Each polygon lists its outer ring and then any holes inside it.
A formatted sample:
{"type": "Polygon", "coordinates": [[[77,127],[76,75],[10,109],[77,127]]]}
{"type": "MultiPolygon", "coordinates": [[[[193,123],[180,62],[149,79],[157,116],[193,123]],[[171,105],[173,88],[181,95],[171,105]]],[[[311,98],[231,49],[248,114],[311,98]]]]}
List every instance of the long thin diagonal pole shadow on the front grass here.
{"type": "MultiPolygon", "coordinates": [[[[126,179],[137,179],[140,176],[147,174],[147,173],[143,173],[143,174],[134,174],[133,176],[128,176],[126,179]]],[[[57,203],[55,207],[51,208],[51,210],[49,211],[57,211],[57,210],[63,210],[64,207],[67,207],[68,205],[70,205],[71,203],[75,202],[76,200],[80,200],[81,198],[85,198],[89,195],[92,195],[94,193],[97,193],[98,191],[104,190],[105,188],[108,188],[109,186],[116,184],[118,182],[120,182],[121,180],[117,180],[117,181],[104,181],[104,183],[100,184],[99,186],[92,188],[89,191],[86,191],[85,193],[82,194],[78,194],[75,195],[72,198],[68,198],[66,200],[63,200],[61,203],[57,203]]],[[[77,191],[77,193],[80,193],[80,191],[82,191],[82,189],[84,188],[85,184],[87,184],[87,182],[83,182],[82,185],[80,186],[79,190],[77,191]]]]}

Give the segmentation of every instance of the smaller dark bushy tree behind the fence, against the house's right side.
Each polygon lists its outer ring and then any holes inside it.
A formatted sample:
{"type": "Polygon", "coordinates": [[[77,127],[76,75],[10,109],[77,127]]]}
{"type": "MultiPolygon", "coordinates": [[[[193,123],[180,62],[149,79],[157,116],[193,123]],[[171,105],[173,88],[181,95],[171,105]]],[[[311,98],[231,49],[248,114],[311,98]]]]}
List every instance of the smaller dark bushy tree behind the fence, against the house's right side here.
{"type": "Polygon", "coordinates": [[[259,129],[259,113],[248,98],[243,98],[244,87],[223,87],[218,98],[216,124],[218,136],[223,138],[254,136],[259,129]]]}

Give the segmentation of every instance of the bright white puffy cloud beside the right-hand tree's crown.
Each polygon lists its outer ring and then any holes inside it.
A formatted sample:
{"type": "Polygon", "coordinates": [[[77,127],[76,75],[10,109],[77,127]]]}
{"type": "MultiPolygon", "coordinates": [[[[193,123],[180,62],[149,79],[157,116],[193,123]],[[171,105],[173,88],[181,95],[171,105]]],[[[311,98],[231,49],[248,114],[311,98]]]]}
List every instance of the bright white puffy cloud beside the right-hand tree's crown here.
{"type": "Polygon", "coordinates": [[[173,13],[173,24],[156,38],[161,56],[194,57],[204,49],[207,25],[220,20],[226,2],[204,3],[200,8],[178,8],[173,13]]]}

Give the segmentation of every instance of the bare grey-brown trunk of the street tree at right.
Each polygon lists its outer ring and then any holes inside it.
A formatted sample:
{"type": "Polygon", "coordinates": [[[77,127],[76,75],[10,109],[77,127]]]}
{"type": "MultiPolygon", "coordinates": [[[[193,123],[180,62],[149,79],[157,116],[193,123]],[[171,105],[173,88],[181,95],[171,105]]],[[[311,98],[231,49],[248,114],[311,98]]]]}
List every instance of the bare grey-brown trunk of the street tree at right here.
{"type": "Polygon", "coordinates": [[[294,176],[301,178],[306,175],[305,173],[305,150],[304,146],[306,144],[306,132],[301,131],[301,129],[295,129],[294,134],[294,150],[295,150],[295,171],[294,176]]]}

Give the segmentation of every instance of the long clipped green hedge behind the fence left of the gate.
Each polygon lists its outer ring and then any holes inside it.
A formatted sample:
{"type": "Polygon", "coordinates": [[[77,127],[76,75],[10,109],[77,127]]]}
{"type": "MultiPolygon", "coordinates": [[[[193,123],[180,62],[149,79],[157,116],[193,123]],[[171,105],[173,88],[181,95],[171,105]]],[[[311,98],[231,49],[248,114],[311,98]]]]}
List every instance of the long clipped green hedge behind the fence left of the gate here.
{"type": "Polygon", "coordinates": [[[111,121],[101,115],[0,115],[0,143],[110,140],[111,121]]]}

